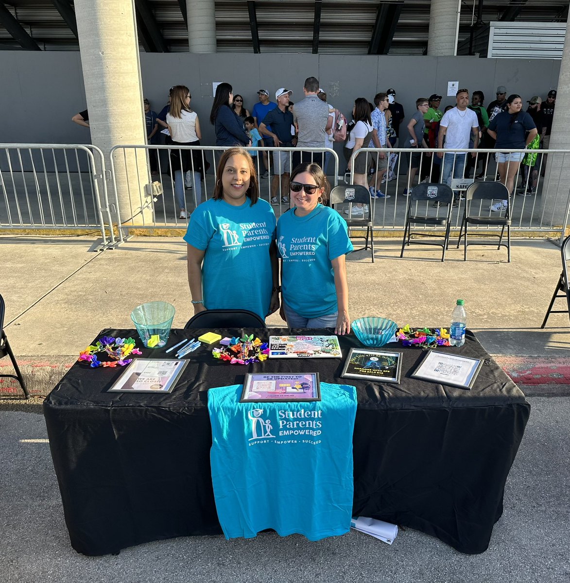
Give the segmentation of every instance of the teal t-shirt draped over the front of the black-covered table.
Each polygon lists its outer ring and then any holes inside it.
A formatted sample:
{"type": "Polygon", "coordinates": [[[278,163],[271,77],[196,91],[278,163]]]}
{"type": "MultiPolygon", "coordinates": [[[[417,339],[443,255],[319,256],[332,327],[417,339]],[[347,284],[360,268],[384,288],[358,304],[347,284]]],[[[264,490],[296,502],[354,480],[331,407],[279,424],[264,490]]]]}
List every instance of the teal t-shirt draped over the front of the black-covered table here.
{"type": "Polygon", "coordinates": [[[349,532],[356,388],[321,383],[322,401],[240,403],[208,391],[212,484],[226,539],[272,528],[309,540],[349,532]]]}

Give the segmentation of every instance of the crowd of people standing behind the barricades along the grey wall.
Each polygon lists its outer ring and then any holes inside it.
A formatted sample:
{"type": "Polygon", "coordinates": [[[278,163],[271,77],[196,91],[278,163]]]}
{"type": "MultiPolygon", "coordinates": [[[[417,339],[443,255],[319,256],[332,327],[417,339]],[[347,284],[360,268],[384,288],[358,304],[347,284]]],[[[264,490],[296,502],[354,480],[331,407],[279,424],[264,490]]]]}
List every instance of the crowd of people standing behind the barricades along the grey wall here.
{"type": "MultiPolygon", "coordinates": [[[[351,121],[347,122],[342,113],[328,103],[318,79],[307,78],[303,92],[304,99],[294,104],[291,101],[293,92],[286,87],[277,89],[275,101],[270,99],[267,89],[259,89],[259,101],[250,112],[245,107],[244,98],[240,94],[234,95],[229,83],[219,83],[216,88],[209,117],[216,134],[216,146],[295,148],[293,156],[289,151],[272,152],[271,161],[266,150],[249,150],[255,166],[259,168],[259,177],[269,178],[272,174],[270,189],[273,205],[288,204],[289,195],[286,193],[290,170],[300,161],[313,161],[326,174],[330,152],[323,156],[304,152],[304,148],[331,148],[339,141],[344,141],[347,171],[352,169],[351,156],[361,148],[390,149],[399,146],[414,150],[410,152],[406,164],[409,172],[404,180],[404,196],[411,193],[416,180],[451,184],[452,178],[469,178],[472,174],[475,178],[484,178],[489,161],[487,154],[466,156],[455,150],[477,147],[547,149],[557,94],[555,90],[550,90],[544,101],[539,96],[533,96],[527,100],[525,112],[522,110],[522,98],[516,93],[507,96],[506,87],[502,85],[497,87],[496,99],[487,107],[482,91],[474,91],[470,96],[467,89],[460,89],[456,95],[456,106],[448,106],[441,111],[442,96],[434,93],[428,98],[418,98],[416,111],[406,120],[402,104],[396,101],[396,90],[390,88],[385,93],[378,93],[374,103],[366,97],[358,97],[354,101],[351,121]],[[431,157],[429,152],[421,151],[434,148],[445,148],[449,153],[431,157]]],[[[150,145],[160,143],[161,132],[166,134],[166,143],[200,145],[200,125],[198,115],[191,108],[191,99],[188,87],[182,85],[170,88],[168,103],[160,113],[154,112],[145,99],[146,133],[150,145]]],[[[72,119],[80,125],[89,126],[87,110],[72,119]]],[[[504,158],[501,153],[495,156],[499,177],[509,192],[513,191],[522,162],[524,188],[518,194],[534,194],[539,167],[542,166],[544,171],[544,160],[532,152],[526,156],[513,153],[504,158]]],[[[394,159],[393,154],[390,156],[383,151],[375,156],[356,156],[354,182],[367,187],[372,198],[390,198],[382,191],[381,185],[393,178],[389,161],[394,159]]],[[[149,161],[152,175],[157,175],[156,150],[149,151],[149,161]]],[[[189,213],[185,208],[184,187],[194,188],[196,202],[202,202],[199,178],[203,180],[207,171],[204,166],[209,166],[209,163],[204,156],[196,153],[189,156],[184,150],[176,152],[174,149],[171,163],[175,198],[180,206],[180,218],[185,219],[189,213]]],[[[492,210],[504,210],[507,202],[494,205],[492,210]]],[[[353,215],[363,210],[356,207],[353,215]]]]}

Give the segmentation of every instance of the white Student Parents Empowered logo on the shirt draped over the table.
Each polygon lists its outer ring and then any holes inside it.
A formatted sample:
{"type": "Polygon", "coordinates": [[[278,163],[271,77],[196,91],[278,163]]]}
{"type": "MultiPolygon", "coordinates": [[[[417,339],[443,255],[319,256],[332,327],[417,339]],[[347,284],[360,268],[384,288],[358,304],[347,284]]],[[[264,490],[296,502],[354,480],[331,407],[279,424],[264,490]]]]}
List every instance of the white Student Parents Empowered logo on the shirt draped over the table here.
{"type": "Polygon", "coordinates": [[[269,410],[251,409],[248,411],[251,420],[251,437],[249,445],[273,442],[276,444],[310,443],[319,444],[321,440],[314,437],[322,433],[322,410],[269,410]],[[272,414],[276,419],[272,422],[272,414]],[[275,427],[275,429],[274,429],[275,427]],[[273,435],[272,431],[276,433],[273,435]],[[287,437],[288,439],[283,439],[287,437]],[[291,439],[294,437],[295,439],[291,439]],[[301,438],[301,439],[296,439],[301,438]]]}

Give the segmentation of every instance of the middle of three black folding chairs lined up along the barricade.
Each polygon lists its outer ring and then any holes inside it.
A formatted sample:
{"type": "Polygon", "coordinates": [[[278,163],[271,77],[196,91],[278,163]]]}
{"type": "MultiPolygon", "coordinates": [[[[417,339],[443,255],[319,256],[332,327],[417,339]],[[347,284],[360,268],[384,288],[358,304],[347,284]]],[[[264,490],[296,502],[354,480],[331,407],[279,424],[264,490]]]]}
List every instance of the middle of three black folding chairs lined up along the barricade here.
{"type": "MultiPolygon", "coordinates": [[[[435,184],[432,182],[422,182],[415,186],[411,195],[409,196],[407,203],[406,212],[406,224],[404,226],[404,238],[402,241],[402,251],[400,252],[400,257],[404,257],[404,247],[406,245],[420,244],[420,245],[438,245],[443,247],[443,252],[441,254],[441,261],[445,260],[445,250],[449,247],[449,229],[451,229],[451,205],[453,203],[453,191],[447,184],[435,184]],[[413,210],[414,202],[427,201],[429,212],[430,202],[434,203],[437,207],[437,212],[432,215],[419,215],[413,210]],[[442,211],[444,214],[439,216],[439,212],[442,211]],[[413,214],[412,214],[413,213],[413,214]],[[419,231],[413,233],[411,231],[411,223],[416,224],[432,224],[434,226],[445,227],[445,235],[443,236],[443,241],[413,241],[411,240],[412,235],[418,235],[420,237],[439,237],[442,236],[439,233],[426,233],[425,231],[419,231]]],[[[417,208],[417,205],[416,205],[417,208]]]]}

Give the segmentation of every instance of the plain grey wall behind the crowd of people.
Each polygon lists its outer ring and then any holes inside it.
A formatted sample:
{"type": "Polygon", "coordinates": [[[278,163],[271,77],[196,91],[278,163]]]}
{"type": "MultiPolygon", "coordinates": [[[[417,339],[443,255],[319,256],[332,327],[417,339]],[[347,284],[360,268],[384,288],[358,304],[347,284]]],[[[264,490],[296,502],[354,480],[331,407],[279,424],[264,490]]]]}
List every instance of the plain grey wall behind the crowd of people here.
{"type": "MultiPolygon", "coordinates": [[[[140,66],[145,97],[155,111],[166,104],[171,85],[189,87],[205,145],[215,143],[208,121],[213,82],[231,83],[251,111],[258,89],[268,89],[274,96],[276,89],[287,87],[293,90],[291,99],[297,101],[302,99],[305,78],[315,75],[329,103],[350,120],[356,97],[371,101],[388,87],[396,89],[406,117],[411,117],[417,97],[440,93],[442,109],[455,104],[454,97],[446,97],[451,80],[471,92],[483,90],[489,103],[495,99],[497,85],[519,93],[523,100],[533,95],[546,98],[548,90],[557,87],[560,72],[560,61],[546,59],[385,55],[143,53],[140,66]]],[[[89,129],[71,121],[86,107],[79,52],[1,51],[0,71],[0,111],[4,113],[0,143],[90,143],[89,129]]]]}

